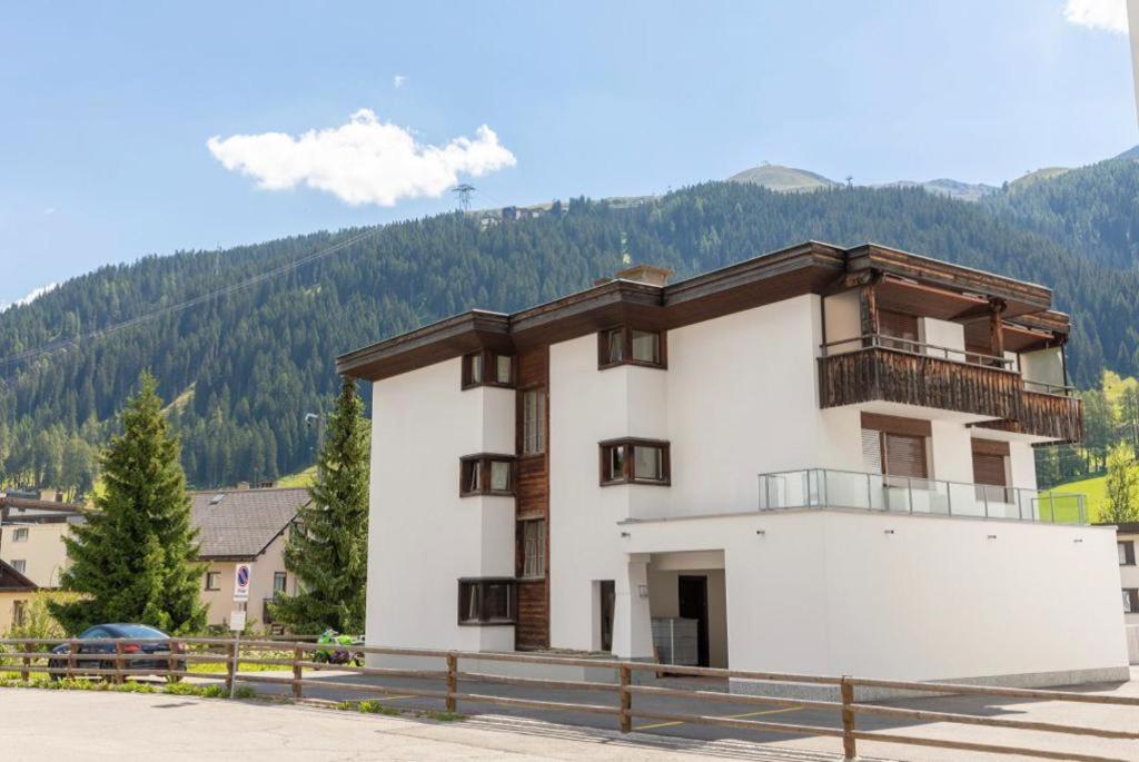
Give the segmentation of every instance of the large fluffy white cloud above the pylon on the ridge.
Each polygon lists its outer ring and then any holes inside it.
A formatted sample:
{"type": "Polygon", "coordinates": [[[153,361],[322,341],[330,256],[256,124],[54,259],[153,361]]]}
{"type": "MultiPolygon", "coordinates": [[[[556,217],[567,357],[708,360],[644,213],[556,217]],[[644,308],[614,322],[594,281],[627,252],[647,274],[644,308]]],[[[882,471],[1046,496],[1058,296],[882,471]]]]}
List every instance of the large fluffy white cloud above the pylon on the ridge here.
{"type": "Polygon", "coordinates": [[[474,140],[421,145],[409,130],[380,122],[367,108],[347,124],[309,130],[296,138],[282,132],[214,136],[206,146],[222,166],[255,178],[261,188],[286,190],[304,183],[353,206],[437,198],[460,174],[477,178],[516,163],[485,124],[474,140]]]}

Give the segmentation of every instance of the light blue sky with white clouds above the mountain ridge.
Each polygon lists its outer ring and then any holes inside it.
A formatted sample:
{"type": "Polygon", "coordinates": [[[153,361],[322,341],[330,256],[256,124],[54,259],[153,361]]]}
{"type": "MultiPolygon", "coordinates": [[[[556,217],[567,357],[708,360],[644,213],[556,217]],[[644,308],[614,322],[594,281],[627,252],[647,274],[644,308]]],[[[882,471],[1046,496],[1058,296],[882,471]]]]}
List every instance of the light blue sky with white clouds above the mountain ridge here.
{"type": "Polygon", "coordinates": [[[0,304],[100,265],[762,162],[999,185],[1139,142],[1123,0],[14,3],[0,304]]]}

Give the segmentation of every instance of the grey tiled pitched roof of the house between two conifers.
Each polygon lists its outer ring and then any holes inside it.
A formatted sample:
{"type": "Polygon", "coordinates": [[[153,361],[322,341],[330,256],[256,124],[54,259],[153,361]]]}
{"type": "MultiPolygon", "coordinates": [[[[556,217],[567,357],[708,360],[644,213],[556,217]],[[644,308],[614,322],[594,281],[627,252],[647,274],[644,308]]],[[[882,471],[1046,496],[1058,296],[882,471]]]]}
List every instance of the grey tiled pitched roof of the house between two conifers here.
{"type": "Polygon", "coordinates": [[[309,502],[305,489],[216,490],[190,497],[202,558],[256,557],[309,502]]]}

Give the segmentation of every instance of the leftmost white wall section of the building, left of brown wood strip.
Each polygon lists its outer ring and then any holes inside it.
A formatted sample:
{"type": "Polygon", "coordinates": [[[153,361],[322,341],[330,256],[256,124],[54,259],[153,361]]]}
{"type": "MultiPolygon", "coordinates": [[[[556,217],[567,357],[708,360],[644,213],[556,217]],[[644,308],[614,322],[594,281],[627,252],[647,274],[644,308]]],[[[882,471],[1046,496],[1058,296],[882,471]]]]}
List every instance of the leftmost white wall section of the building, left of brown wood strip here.
{"type": "Polygon", "coordinates": [[[514,576],[514,500],[459,497],[459,458],[513,453],[515,393],[460,388],[459,359],[372,385],[367,640],[501,650],[511,626],[460,626],[458,580],[514,576]]]}

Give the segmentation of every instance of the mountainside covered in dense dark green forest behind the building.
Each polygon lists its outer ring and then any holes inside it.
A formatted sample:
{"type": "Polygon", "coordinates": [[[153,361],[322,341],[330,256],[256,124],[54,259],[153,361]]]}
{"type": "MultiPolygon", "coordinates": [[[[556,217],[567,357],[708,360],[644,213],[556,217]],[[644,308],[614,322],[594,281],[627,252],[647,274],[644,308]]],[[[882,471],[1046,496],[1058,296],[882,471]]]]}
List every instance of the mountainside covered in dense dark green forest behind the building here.
{"type": "MultiPolygon", "coordinates": [[[[1137,165],[1117,164],[1113,182],[1136,183],[1137,165]]],[[[1100,170],[1057,180],[1084,171],[1100,170]]],[[[252,288],[30,361],[0,361],[0,482],[80,478],[80,450],[101,443],[105,421],[142,368],[172,401],[195,485],[296,470],[312,460],[316,433],[303,417],[335,393],[337,354],[468,308],[515,310],[587,287],[621,267],[623,252],[687,277],[809,238],[896,246],[1054,287],[1057,306],[1075,321],[1075,380],[1093,383],[1104,367],[1136,375],[1139,271],[1101,255],[1099,244],[1093,255],[1082,249],[1096,240],[1115,251],[1111,224],[1098,226],[1116,215],[1079,208],[1079,200],[1067,203],[1073,219],[1087,220],[1082,237],[1039,221],[1016,198],[978,205],[918,188],[778,194],[727,182],[633,208],[574,199],[485,229],[458,213],[391,224],[252,288]]],[[[181,303],[360,232],[100,269],[0,313],[0,358],[181,303]]]]}

